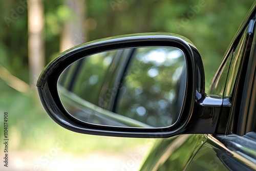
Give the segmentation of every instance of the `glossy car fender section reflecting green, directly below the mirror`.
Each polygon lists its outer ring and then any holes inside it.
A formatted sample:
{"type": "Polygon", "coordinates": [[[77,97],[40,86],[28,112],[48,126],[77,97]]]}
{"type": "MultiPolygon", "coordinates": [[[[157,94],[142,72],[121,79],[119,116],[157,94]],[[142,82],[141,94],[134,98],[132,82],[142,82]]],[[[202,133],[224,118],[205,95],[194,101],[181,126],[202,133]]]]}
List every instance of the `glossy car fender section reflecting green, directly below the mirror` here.
{"type": "Polygon", "coordinates": [[[184,170],[206,140],[204,134],[158,139],[140,170],[184,170]]]}

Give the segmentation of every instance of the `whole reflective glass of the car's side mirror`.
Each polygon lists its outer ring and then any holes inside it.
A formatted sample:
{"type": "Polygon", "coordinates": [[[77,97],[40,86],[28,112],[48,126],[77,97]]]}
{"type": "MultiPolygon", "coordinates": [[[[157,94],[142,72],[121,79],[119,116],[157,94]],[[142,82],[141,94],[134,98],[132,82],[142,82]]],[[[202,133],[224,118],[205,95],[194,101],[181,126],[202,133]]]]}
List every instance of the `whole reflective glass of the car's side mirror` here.
{"type": "Polygon", "coordinates": [[[81,121],[166,127],[180,116],[185,85],[180,49],[141,47],[83,57],[61,73],[57,89],[63,107],[81,121]]]}

